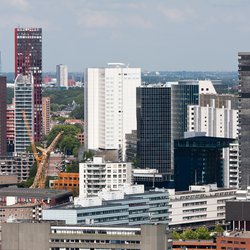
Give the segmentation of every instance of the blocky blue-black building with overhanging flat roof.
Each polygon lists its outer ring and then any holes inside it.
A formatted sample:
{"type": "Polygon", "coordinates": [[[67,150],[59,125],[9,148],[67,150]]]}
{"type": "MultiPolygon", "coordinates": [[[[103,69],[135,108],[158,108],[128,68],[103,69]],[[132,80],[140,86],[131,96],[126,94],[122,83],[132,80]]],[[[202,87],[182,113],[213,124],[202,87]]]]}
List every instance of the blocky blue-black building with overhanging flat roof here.
{"type": "Polygon", "coordinates": [[[234,139],[197,136],[174,143],[174,186],[177,191],[190,185],[217,183],[224,187],[223,148],[234,139]]]}

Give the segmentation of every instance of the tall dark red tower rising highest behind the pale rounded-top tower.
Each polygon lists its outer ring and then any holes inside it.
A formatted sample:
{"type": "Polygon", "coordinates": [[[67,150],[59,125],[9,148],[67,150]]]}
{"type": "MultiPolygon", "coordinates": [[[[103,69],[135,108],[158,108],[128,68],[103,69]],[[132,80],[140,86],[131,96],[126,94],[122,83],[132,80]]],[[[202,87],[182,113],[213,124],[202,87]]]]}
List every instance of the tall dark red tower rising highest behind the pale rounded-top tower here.
{"type": "Polygon", "coordinates": [[[42,138],[42,29],[15,28],[15,77],[18,74],[34,78],[34,141],[42,138]]]}

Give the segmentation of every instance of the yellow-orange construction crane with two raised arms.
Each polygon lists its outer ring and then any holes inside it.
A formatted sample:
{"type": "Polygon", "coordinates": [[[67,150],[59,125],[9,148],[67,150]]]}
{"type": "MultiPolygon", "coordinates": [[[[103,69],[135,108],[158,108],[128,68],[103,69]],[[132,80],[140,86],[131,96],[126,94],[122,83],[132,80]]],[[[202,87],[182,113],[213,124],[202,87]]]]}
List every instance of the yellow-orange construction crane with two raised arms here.
{"type": "Polygon", "coordinates": [[[54,140],[51,142],[49,147],[47,148],[42,148],[38,146],[36,147],[25,111],[23,111],[22,114],[23,114],[24,124],[25,124],[26,130],[30,139],[32,151],[36,159],[36,163],[37,163],[36,176],[30,188],[45,188],[49,156],[50,156],[50,153],[56,147],[56,144],[58,143],[61,135],[63,134],[63,131],[59,132],[59,134],[54,138],[54,140]],[[41,151],[41,155],[38,154],[37,149],[41,151]]]}

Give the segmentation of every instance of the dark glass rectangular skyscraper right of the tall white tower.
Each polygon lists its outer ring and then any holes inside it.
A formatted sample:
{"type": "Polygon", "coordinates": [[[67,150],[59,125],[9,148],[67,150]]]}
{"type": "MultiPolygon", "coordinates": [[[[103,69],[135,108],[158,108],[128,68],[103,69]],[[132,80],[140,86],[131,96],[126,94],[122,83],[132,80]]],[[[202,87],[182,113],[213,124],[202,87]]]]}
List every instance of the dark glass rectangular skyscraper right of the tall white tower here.
{"type": "Polygon", "coordinates": [[[158,187],[171,179],[171,88],[137,88],[137,157],[140,168],[163,174],[158,187]]]}

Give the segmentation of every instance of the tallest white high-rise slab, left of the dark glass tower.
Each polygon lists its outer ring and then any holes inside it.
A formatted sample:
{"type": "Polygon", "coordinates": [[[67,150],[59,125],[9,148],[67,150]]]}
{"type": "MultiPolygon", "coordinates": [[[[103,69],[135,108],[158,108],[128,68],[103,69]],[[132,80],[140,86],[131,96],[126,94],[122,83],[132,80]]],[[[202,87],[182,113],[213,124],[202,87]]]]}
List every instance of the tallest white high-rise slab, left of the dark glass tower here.
{"type": "Polygon", "coordinates": [[[119,150],[125,159],[125,134],[136,129],[136,87],[141,69],[121,63],[88,68],[84,90],[87,149],[119,150]]]}

